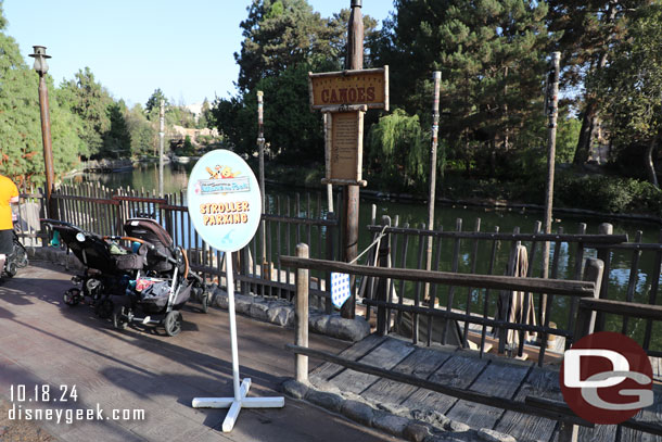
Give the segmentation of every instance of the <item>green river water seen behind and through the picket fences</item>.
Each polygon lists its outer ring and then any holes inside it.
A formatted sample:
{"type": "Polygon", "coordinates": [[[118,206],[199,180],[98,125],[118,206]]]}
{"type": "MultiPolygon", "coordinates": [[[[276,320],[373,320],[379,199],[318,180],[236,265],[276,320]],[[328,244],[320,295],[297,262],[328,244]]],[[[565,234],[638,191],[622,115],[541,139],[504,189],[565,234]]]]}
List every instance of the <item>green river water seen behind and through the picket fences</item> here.
{"type": "MultiPolygon", "coordinates": [[[[188,173],[193,167],[193,164],[188,165],[169,165],[164,171],[164,191],[166,193],[183,191],[186,193],[186,187],[188,185],[188,173]]],[[[100,175],[87,175],[78,177],[77,180],[84,181],[100,181],[106,187],[118,188],[127,186],[135,189],[144,189],[145,191],[152,191],[158,188],[158,167],[156,164],[143,165],[142,167],[136,168],[132,172],[123,172],[114,174],[100,174],[100,175]]],[[[281,213],[287,212],[287,204],[290,204],[290,215],[292,216],[306,216],[306,212],[309,210],[314,216],[319,213],[326,216],[327,213],[327,201],[326,193],[319,195],[314,193],[310,199],[305,194],[305,191],[301,191],[300,199],[300,213],[296,213],[295,201],[296,192],[300,190],[289,189],[283,187],[267,185],[267,211],[275,213],[276,207],[279,206],[281,213]],[[318,206],[318,201],[320,206],[318,206]]],[[[335,199],[335,201],[338,201],[335,199]]],[[[367,248],[372,241],[372,236],[369,233],[365,226],[370,224],[371,220],[371,207],[372,204],[377,205],[377,220],[381,220],[383,215],[389,215],[392,222],[395,222],[396,215],[399,217],[399,226],[409,224],[410,227],[419,227],[421,223],[425,223],[428,219],[428,207],[423,202],[402,202],[402,201],[384,201],[370,198],[361,198],[360,200],[360,214],[359,214],[359,252],[367,248]]],[[[338,212],[338,207],[336,207],[338,212]]],[[[437,205],[435,210],[435,224],[437,227],[443,226],[444,230],[453,231],[456,230],[456,219],[462,218],[463,225],[462,230],[471,231],[474,229],[476,218],[481,218],[481,231],[492,232],[495,227],[498,226],[501,232],[512,232],[515,227],[520,227],[521,231],[532,232],[537,220],[543,218],[540,212],[527,212],[527,211],[495,211],[491,209],[482,207],[468,207],[468,206],[448,206],[437,205]]],[[[604,218],[590,218],[590,217],[571,217],[571,216],[556,216],[552,231],[557,231],[559,227],[562,227],[565,233],[576,233],[578,230],[580,223],[586,223],[587,233],[598,233],[598,226],[600,223],[609,222],[614,226],[614,233],[627,233],[629,241],[634,241],[637,230],[642,231],[642,242],[658,242],[660,235],[660,226],[655,224],[649,224],[645,222],[622,222],[604,218]]],[[[284,241],[284,230],[280,230],[281,244],[284,241]]],[[[276,237],[279,236],[277,226],[271,226],[271,245],[272,255],[276,255],[276,237]]],[[[311,249],[315,249],[320,237],[323,238],[324,231],[316,231],[311,235],[311,249]]],[[[306,231],[302,233],[302,239],[307,240],[306,231]]],[[[290,238],[291,253],[293,253],[295,244],[295,233],[292,232],[290,238]]],[[[449,271],[451,270],[451,257],[454,250],[453,240],[445,239],[442,241],[442,253],[440,254],[438,270],[449,271]]],[[[530,247],[530,244],[524,244],[530,247]]],[[[436,255],[438,243],[435,243],[433,250],[433,256],[436,255]]],[[[488,271],[489,257],[492,253],[492,242],[482,241],[476,250],[475,264],[473,254],[473,241],[462,240],[459,247],[459,266],[458,271],[470,273],[475,265],[475,271],[486,274],[488,271]]],[[[495,268],[493,270],[496,275],[504,275],[506,269],[509,251],[511,243],[502,241],[497,251],[497,260],[495,268]]],[[[419,243],[418,240],[410,240],[408,254],[405,260],[406,264],[400,262],[402,253],[402,240],[400,243],[395,244],[395,266],[406,266],[408,268],[418,267],[419,261],[419,243]]],[[[553,253],[553,244],[552,244],[553,253]]],[[[314,254],[311,254],[314,255],[314,254]]],[[[530,265],[534,266],[534,276],[540,275],[542,268],[542,253],[538,250],[536,258],[530,265]]],[[[559,278],[562,279],[575,279],[575,262],[574,262],[575,250],[573,244],[561,243],[559,250],[559,278]]],[[[596,256],[595,250],[586,250],[584,257],[596,256]]],[[[625,300],[627,286],[631,276],[631,265],[633,261],[633,252],[616,251],[611,254],[611,270],[609,277],[609,298],[615,300],[625,300]]],[[[634,301],[648,303],[650,296],[651,285],[655,278],[660,281],[659,269],[654,267],[654,252],[642,252],[637,274],[637,283],[635,285],[634,301]]],[[[407,286],[404,290],[408,296],[412,296],[416,287],[413,285],[407,286]]],[[[441,288],[437,291],[437,296],[442,305],[446,305],[448,292],[447,289],[441,288]]],[[[481,312],[480,307],[483,305],[484,291],[468,289],[457,289],[454,296],[454,306],[458,308],[466,308],[467,300],[471,302],[471,308],[474,312],[481,312]]],[[[491,316],[494,314],[494,299],[496,294],[492,294],[491,298],[491,316]]],[[[551,320],[556,321],[559,327],[563,327],[568,324],[568,312],[569,303],[566,299],[559,298],[555,299],[553,310],[551,312],[551,320]]],[[[662,298],[660,295],[659,298],[662,298]]],[[[658,302],[660,303],[660,302],[658,302]]],[[[614,331],[621,331],[621,319],[616,317],[608,316],[607,326],[609,329],[614,331]]],[[[629,321],[628,334],[639,338],[644,336],[645,323],[644,321],[629,321]]],[[[653,344],[652,350],[662,350],[662,328],[653,327],[653,344]],[[655,339],[654,337],[660,338],[655,339]]]]}

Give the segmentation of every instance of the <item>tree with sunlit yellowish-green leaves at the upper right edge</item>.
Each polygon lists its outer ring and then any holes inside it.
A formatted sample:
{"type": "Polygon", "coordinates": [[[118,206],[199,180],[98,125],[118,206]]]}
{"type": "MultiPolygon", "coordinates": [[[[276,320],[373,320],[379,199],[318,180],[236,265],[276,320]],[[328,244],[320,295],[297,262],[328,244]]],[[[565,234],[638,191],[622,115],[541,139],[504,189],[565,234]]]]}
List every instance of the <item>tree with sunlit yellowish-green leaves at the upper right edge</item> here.
{"type": "Polygon", "coordinates": [[[626,29],[625,38],[610,48],[610,63],[590,86],[611,116],[614,148],[644,146],[641,165],[648,180],[659,187],[653,152],[662,137],[662,4],[639,8],[626,29]]]}

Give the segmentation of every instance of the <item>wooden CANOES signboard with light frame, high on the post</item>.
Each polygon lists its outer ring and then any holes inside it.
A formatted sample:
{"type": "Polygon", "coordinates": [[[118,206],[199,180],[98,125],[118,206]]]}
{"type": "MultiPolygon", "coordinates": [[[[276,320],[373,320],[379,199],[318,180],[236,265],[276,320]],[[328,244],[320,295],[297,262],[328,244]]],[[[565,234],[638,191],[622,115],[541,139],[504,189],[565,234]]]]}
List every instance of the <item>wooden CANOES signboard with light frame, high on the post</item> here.
{"type": "MultiPolygon", "coordinates": [[[[358,89],[358,87],[357,87],[358,89]]],[[[389,65],[384,65],[383,67],[377,67],[377,68],[371,68],[371,70],[351,70],[351,71],[338,71],[338,72],[323,72],[323,73],[317,73],[314,74],[311,72],[308,73],[308,94],[310,98],[310,110],[315,111],[315,110],[321,110],[322,112],[324,111],[329,111],[332,112],[333,110],[342,110],[342,108],[346,108],[348,105],[361,105],[365,104],[367,105],[368,109],[383,109],[384,111],[389,111],[389,65]],[[319,85],[319,80],[320,79],[326,79],[326,78],[331,78],[331,79],[339,79],[342,78],[343,80],[347,81],[347,86],[352,86],[352,85],[357,85],[358,86],[358,81],[360,80],[360,77],[381,77],[381,81],[382,81],[382,86],[383,89],[380,88],[379,92],[381,93],[381,97],[383,97],[383,101],[370,101],[368,100],[368,94],[365,93],[362,96],[364,100],[361,100],[360,94],[357,93],[356,94],[356,99],[351,100],[349,97],[347,97],[347,100],[338,100],[336,103],[323,103],[320,101],[316,102],[316,91],[319,91],[320,85],[319,85]],[[354,83],[352,83],[354,81],[354,83]],[[346,101],[346,102],[342,102],[342,101],[346,101]]]]}

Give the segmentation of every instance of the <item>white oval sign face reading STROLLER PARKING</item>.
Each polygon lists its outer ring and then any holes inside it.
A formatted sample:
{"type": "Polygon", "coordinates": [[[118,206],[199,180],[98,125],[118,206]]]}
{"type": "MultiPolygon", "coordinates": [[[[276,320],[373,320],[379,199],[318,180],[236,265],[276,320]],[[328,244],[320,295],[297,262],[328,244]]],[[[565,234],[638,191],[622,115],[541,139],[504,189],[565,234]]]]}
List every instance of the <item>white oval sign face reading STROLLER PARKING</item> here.
{"type": "Polygon", "coordinates": [[[259,226],[257,179],[233,152],[215,150],[198,161],[189,177],[188,202],[195,230],[216,250],[242,249],[259,226]]]}

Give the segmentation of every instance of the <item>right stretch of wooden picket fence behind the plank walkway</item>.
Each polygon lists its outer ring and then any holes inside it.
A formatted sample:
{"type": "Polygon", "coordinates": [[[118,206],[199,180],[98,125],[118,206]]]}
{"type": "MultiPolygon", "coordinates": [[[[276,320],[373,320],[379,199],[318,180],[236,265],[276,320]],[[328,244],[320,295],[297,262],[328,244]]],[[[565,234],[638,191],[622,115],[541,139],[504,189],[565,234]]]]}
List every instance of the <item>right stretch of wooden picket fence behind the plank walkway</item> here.
{"type": "MultiPolygon", "coordinates": [[[[533,233],[522,233],[520,228],[514,228],[510,232],[501,232],[496,227],[493,232],[481,231],[481,219],[478,218],[475,227],[472,231],[462,231],[462,219],[457,219],[455,230],[445,231],[443,226],[435,230],[425,229],[424,225],[419,225],[418,228],[411,228],[408,225],[394,226],[389,217],[382,219],[381,225],[377,225],[373,220],[372,225],[367,227],[373,238],[379,238],[383,235],[380,244],[382,251],[378,250],[378,244],[374,244],[373,250],[369,254],[368,262],[371,265],[391,266],[396,268],[425,268],[424,257],[427,250],[427,241],[433,242],[433,263],[432,269],[445,269],[450,273],[479,273],[484,275],[513,275],[514,268],[514,251],[518,245],[525,245],[529,251],[529,267],[526,270],[527,277],[542,277],[543,269],[538,265],[542,262],[542,251],[545,241],[551,242],[550,269],[549,277],[552,279],[581,279],[582,266],[586,257],[595,256],[604,262],[604,271],[601,280],[600,299],[615,299],[616,295],[609,292],[609,281],[613,277],[614,269],[611,268],[611,261],[614,253],[626,253],[629,256],[629,275],[627,276],[627,293],[625,299],[619,301],[641,302],[644,293],[641,291],[640,274],[650,275],[650,290],[647,301],[654,305],[658,302],[660,268],[662,262],[662,231],[660,233],[659,243],[642,243],[641,232],[636,233],[634,242],[627,242],[626,235],[613,235],[613,228],[610,224],[599,226],[598,235],[587,235],[586,225],[580,224],[576,233],[565,233],[562,228],[556,233],[545,235],[540,232],[540,225],[536,223],[533,233]],[[450,261],[442,262],[442,251],[451,250],[450,261]],[[463,250],[463,253],[460,252],[463,250]],[[642,268],[640,256],[648,253],[649,262],[652,262],[652,268],[642,268]],[[565,275],[560,275],[559,261],[563,256],[568,260],[566,266],[570,268],[565,275]],[[460,268],[462,267],[462,268],[460,268]],[[635,294],[636,298],[635,299],[635,294]]],[[[622,271],[622,269],[619,269],[622,271]]],[[[378,296],[387,301],[396,302],[398,305],[409,302],[413,307],[411,312],[412,324],[410,330],[407,330],[413,342],[422,341],[428,344],[432,342],[433,333],[431,332],[431,323],[428,321],[423,326],[422,333],[419,327],[419,314],[417,308],[431,308],[432,303],[435,305],[441,303],[446,307],[446,311],[463,311],[464,314],[481,314],[484,317],[498,317],[499,312],[497,306],[501,301],[501,310],[509,312],[511,296],[504,296],[502,292],[495,293],[493,290],[479,290],[475,287],[468,289],[448,285],[440,287],[438,285],[427,285],[417,281],[407,282],[400,280],[397,283],[392,279],[389,287],[378,287],[377,280],[372,278],[364,278],[359,293],[365,296],[364,303],[368,305],[367,316],[370,317],[371,310],[374,308],[378,296]],[[429,293],[425,296],[425,293],[429,293]]],[[[623,298],[623,296],[621,296],[623,298]]],[[[573,329],[574,320],[577,313],[577,300],[572,299],[568,303],[562,302],[558,305],[553,302],[553,294],[550,293],[531,293],[524,292],[524,311],[527,311],[529,305],[536,307],[537,324],[548,327],[550,321],[557,324],[558,327],[573,329]]],[[[393,323],[395,330],[403,330],[403,312],[404,310],[387,312],[387,324],[393,323]],[[393,315],[393,318],[391,317],[393,315]]],[[[525,323],[526,317],[521,316],[522,323],[525,323]]],[[[616,317],[599,313],[596,323],[596,330],[610,329],[621,331],[624,334],[633,336],[636,332],[637,341],[649,352],[650,355],[662,355],[662,349],[652,349],[653,341],[660,332],[661,325],[653,327],[653,323],[649,319],[629,320],[627,316],[616,317]]],[[[469,327],[464,324],[462,333],[462,343],[467,345],[469,327]]],[[[444,333],[444,337],[446,334],[444,333]]],[[[520,336],[521,338],[521,336],[520,336]]],[[[543,340],[547,339],[543,334],[543,340]]],[[[481,342],[485,340],[485,327],[481,330],[481,342]]],[[[524,340],[520,339],[517,348],[517,354],[521,355],[524,340]]],[[[482,345],[481,344],[481,345],[482,345]]],[[[545,353],[546,342],[543,342],[542,352],[545,353]]],[[[657,342],[660,345],[660,342],[657,342]]],[[[566,342],[565,348],[568,348],[566,342]]],[[[499,352],[506,350],[506,342],[502,336],[499,337],[499,352]]]]}

